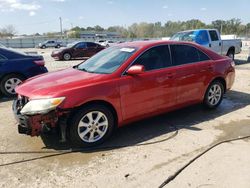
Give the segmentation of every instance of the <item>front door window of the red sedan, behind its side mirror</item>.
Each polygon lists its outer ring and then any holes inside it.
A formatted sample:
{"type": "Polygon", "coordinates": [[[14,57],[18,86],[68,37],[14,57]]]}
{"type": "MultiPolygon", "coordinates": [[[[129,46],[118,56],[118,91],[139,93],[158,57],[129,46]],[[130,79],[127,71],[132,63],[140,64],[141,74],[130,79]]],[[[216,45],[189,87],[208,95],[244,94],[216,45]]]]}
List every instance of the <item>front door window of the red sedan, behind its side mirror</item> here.
{"type": "Polygon", "coordinates": [[[135,61],[134,65],[143,65],[146,71],[171,66],[168,45],[157,46],[147,50],[135,61]]]}

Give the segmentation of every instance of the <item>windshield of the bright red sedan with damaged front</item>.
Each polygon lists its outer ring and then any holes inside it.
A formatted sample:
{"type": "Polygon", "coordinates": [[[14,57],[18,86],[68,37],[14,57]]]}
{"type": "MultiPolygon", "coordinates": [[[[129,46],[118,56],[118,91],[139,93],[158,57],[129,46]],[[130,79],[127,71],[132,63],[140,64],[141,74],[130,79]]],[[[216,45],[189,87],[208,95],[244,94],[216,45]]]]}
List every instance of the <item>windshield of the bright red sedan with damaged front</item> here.
{"type": "Polygon", "coordinates": [[[131,47],[111,47],[99,52],[77,68],[86,72],[110,74],[116,71],[136,50],[131,47]]]}

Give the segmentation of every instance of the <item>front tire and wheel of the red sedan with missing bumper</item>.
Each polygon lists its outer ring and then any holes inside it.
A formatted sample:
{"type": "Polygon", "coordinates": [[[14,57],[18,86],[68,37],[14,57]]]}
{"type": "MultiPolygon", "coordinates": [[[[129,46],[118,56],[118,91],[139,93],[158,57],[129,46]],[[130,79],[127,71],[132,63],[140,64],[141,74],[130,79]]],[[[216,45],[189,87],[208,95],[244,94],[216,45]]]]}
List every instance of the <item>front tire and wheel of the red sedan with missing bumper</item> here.
{"type": "Polygon", "coordinates": [[[69,122],[69,136],[73,145],[90,147],[103,143],[113,132],[112,112],[103,105],[83,107],[69,122]]]}

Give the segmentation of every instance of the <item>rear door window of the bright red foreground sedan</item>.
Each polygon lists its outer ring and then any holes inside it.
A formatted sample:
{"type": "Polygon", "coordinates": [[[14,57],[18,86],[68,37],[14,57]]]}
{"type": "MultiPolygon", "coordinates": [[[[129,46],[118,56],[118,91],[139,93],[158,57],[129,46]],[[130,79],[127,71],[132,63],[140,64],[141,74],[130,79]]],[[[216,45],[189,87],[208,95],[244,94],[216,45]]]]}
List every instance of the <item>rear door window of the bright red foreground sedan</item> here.
{"type": "Polygon", "coordinates": [[[173,63],[183,65],[198,62],[199,55],[196,48],[188,45],[171,45],[173,63]]]}

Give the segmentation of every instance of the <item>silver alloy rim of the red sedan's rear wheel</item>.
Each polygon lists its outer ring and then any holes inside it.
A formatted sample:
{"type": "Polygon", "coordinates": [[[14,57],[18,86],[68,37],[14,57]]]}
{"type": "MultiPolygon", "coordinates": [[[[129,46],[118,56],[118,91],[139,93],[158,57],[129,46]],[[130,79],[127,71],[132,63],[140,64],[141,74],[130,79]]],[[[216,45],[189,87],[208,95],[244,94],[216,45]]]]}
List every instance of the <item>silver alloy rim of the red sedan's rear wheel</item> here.
{"type": "Polygon", "coordinates": [[[219,103],[222,97],[222,90],[220,85],[214,84],[208,91],[208,102],[210,105],[215,106],[219,103]]]}

